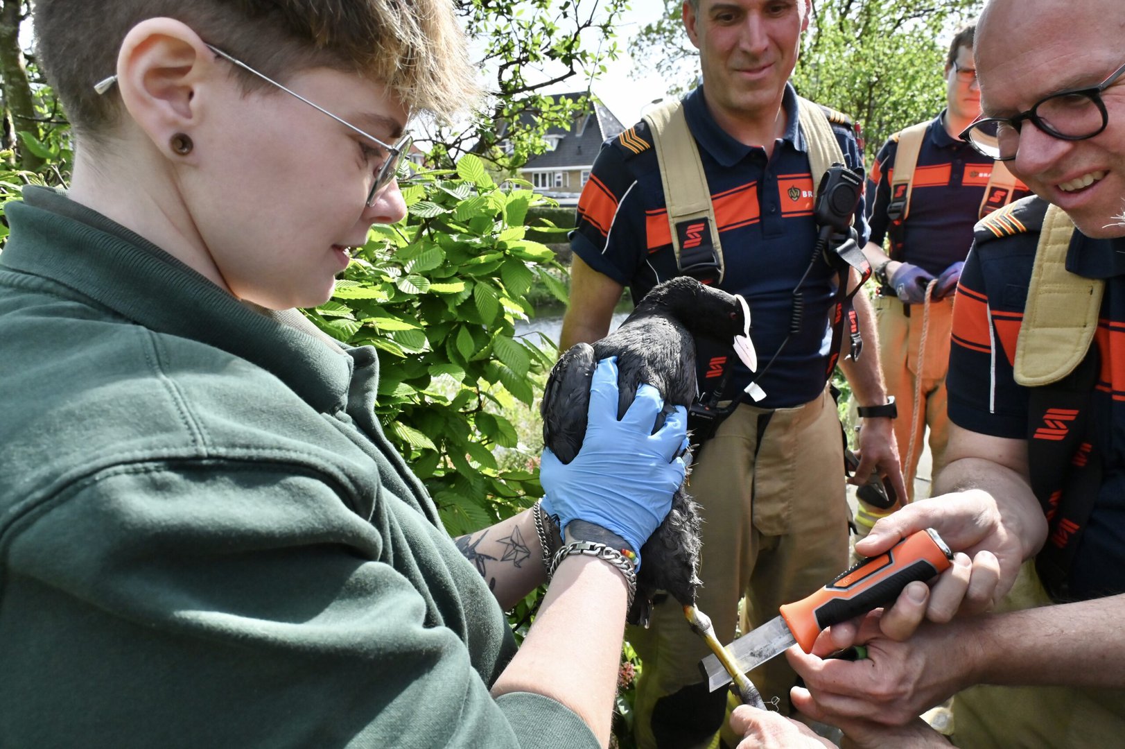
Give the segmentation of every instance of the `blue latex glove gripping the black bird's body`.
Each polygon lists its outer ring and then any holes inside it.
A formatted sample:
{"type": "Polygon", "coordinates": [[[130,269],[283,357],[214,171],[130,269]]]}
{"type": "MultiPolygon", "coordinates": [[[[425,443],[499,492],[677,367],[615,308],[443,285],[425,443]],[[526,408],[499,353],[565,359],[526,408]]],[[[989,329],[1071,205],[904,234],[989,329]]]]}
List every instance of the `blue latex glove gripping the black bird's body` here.
{"type": "Polygon", "coordinates": [[[677,405],[654,435],[664,403],[651,385],[637,396],[620,421],[616,357],[602,359],[590,387],[590,410],[582,449],[564,464],[543,448],[539,480],[543,510],[558,516],[564,529],[586,520],[624,538],[638,552],[672,508],[672,494],[684,482],[687,410],[677,405]]]}

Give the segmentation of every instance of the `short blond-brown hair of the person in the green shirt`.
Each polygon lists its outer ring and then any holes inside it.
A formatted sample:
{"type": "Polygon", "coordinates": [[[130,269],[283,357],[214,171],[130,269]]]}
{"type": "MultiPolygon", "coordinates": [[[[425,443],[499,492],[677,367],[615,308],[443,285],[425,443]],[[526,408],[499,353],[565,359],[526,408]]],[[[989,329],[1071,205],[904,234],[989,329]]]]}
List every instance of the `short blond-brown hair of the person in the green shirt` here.
{"type": "MultiPolygon", "coordinates": [[[[128,30],[158,17],[273,78],[353,72],[442,118],[479,96],[451,0],[37,0],[37,59],[76,132],[97,136],[116,122],[120,98],[93,84],[116,70],[128,30]]],[[[262,86],[235,72],[245,90],[262,86]]]]}

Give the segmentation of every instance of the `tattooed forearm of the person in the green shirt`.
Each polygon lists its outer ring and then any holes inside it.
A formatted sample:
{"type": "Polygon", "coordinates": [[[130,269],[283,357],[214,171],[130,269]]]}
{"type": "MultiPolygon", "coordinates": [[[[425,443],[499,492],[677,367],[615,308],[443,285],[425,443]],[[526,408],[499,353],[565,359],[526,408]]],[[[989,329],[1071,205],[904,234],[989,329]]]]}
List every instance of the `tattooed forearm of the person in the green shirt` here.
{"type": "Polygon", "coordinates": [[[453,541],[466,559],[476,564],[505,610],[547,581],[543,547],[531,510],[453,541]]]}

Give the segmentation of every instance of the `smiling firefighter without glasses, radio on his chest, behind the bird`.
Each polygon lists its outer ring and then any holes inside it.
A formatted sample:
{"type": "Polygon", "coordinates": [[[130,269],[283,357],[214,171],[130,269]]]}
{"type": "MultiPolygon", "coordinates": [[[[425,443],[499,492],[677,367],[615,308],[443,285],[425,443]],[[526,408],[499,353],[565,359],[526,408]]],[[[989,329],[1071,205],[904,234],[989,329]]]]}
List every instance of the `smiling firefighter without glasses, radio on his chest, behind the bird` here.
{"type": "MultiPolygon", "coordinates": [[[[850,122],[800,99],[788,82],[808,25],[808,0],[688,0],[683,18],[700,50],[703,83],[660,110],[669,119],[682,117],[681,141],[659,145],[670,136],[647,115],[608,141],[594,162],[572,234],[570,305],[561,345],[603,337],[627,286],[639,300],[657,283],[688,273],[747,298],[758,372],[735,368],[729,377],[709,376],[737,359],[731,351],[702,353],[700,386],[704,394],[720,389],[724,403],[754,381],[765,398],[753,403],[747,398],[732,409],[704,443],[691,474],[704,519],[700,607],[719,639],[729,642],[744,594],[750,625],[762,624],[780,604],[810,594],[847,564],[843,443],[827,387],[838,350],[831,313],[839,284],[837,269],[813,255],[812,208],[827,166],[817,157],[819,149],[836,154],[829,163],[845,162],[861,175],[863,158],[850,122]],[[669,202],[668,195],[691,180],[670,167],[673,179],[664,179],[659,154],[670,158],[692,149],[705,175],[705,184],[696,178],[692,197],[705,190],[711,214],[677,235],[669,222],[669,213],[678,209],[669,203],[677,198],[669,202]],[[708,238],[718,242],[702,244],[718,243],[721,251],[701,259],[701,239],[708,238]],[[800,330],[791,336],[795,288],[803,309],[800,330]]],[[[860,247],[867,239],[862,206],[861,200],[853,224],[860,247]]],[[[870,302],[862,293],[855,298],[862,326],[872,316],[870,302]]],[[[886,404],[886,393],[874,346],[865,340],[862,356],[840,357],[840,365],[857,402],[878,409],[886,404]]],[[[867,419],[860,447],[856,480],[879,471],[901,496],[891,419],[867,419]]],[[[628,639],[644,660],[636,706],[639,744],[706,746],[722,723],[724,694],[708,693],[699,660],[709,651],[688,630],[680,606],[670,599],[658,604],[649,628],[634,627],[628,639]]],[[[788,712],[794,675],[784,659],[750,676],[767,701],[778,698],[788,712]]]]}

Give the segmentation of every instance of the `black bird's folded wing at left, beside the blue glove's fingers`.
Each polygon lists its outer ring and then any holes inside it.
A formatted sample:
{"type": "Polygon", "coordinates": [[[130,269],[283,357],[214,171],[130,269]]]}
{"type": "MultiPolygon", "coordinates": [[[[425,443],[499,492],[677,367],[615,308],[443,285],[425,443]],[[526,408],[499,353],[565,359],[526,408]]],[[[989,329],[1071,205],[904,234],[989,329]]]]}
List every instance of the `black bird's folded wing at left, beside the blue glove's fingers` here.
{"type": "Polygon", "coordinates": [[[543,445],[569,463],[582,448],[590,410],[590,383],[594,377],[594,349],[576,344],[559,357],[543,390],[540,412],[543,417],[543,445]]]}

